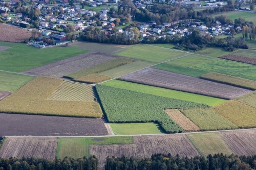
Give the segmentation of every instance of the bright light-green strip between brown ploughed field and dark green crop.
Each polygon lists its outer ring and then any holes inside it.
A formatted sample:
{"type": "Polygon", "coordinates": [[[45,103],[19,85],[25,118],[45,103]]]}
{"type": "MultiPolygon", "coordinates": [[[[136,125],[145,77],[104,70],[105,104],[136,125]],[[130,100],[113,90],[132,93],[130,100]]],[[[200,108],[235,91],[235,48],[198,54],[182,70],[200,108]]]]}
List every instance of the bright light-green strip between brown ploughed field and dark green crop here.
{"type": "Polygon", "coordinates": [[[225,102],[224,99],[212,98],[205,95],[170,90],[170,89],[153,87],[153,86],[142,85],[137,83],[125,82],[120,80],[112,80],[109,82],[105,82],[103,83],[103,85],[146,93],[146,94],[157,95],[164,98],[172,98],[172,99],[179,99],[179,100],[184,100],[188,102],[202,103],[209,106],[216,106],[222,102],[225,102]]]}

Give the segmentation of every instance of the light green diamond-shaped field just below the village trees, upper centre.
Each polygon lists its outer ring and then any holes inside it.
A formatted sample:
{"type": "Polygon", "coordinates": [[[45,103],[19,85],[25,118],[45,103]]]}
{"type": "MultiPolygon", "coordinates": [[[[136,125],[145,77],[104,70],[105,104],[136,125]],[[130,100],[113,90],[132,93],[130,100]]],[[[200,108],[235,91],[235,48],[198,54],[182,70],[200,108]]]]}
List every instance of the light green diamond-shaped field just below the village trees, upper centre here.
{"type": "Polygon", "coordinates": [[[158,63],[175,57],[183,56],[186,53],[150,45],[133,45],[131,47],[127,47],[126,50],[117,52],[115,54],[118,56],[158,63]]]}

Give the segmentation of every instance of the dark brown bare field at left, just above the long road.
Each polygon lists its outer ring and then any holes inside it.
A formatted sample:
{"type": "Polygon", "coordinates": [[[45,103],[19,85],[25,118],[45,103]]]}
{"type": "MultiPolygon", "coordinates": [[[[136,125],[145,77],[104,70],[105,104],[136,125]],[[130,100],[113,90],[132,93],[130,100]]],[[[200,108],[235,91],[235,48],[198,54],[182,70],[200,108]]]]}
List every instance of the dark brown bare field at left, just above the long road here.
{"type": "Polygon", "coordinates": [[[0,113],[0,136],[96,135],[108,135],[101,118],[0,113]]]}

